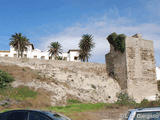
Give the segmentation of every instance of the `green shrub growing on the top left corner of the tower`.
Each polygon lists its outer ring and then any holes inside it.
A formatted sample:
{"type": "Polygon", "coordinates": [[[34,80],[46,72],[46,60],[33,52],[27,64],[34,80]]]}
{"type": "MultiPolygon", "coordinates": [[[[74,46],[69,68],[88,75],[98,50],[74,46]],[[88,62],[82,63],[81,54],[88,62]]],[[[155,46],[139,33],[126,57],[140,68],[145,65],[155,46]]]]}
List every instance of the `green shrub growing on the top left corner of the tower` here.
{"type": "Polygon", "coordinates": [[[115,32],[107,37],[108,42],[113,45],[114,49],[122,53],[125,51],[125,38],[126,36],[124,34],[118,35],[115,32]]]}

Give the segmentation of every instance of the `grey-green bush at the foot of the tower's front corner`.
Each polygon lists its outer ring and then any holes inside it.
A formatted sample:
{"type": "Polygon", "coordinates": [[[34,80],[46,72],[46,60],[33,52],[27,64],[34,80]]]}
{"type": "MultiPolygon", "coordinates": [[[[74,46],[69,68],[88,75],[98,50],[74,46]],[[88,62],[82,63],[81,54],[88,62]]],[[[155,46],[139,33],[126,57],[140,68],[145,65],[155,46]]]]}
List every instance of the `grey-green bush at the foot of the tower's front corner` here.
{"type": "Polygon", "coordinates": [[[134,99],[130,98],[127,93],[120,93],[116,102],[119,105],[135,105],[134,99]]]}

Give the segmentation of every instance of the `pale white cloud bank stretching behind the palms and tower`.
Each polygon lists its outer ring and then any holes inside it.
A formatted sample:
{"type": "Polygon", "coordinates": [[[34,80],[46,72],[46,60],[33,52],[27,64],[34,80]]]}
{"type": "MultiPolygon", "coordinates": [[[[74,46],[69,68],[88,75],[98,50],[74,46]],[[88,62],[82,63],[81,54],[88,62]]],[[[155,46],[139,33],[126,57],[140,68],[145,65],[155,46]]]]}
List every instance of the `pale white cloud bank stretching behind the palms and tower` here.
{"type": "Polygon", "coordinates": [[[64,29],[64,31],[58,34],[41,38],[42,43],[39,47],[46,49],[52,41],[59,41],[62,44],[64,51],[78,48],[81,36],[89,33],[94,35],[94,42],[96,43],[96,47],[92,52],[93,56],[91,61],[104,63],[104,55],[109,51],[109,44],[106,37],[112,32],[117,32],[129,36],[141,33],[143,38],[154,41],[156,51],[160,50],[160,25],[152,23],[133,25],[134,23],[134,21],[125,17],[112,19],[108,18],[107,15],[104,15],[98,19],[91,18],[86,24],[78,23],[64,29]]]}

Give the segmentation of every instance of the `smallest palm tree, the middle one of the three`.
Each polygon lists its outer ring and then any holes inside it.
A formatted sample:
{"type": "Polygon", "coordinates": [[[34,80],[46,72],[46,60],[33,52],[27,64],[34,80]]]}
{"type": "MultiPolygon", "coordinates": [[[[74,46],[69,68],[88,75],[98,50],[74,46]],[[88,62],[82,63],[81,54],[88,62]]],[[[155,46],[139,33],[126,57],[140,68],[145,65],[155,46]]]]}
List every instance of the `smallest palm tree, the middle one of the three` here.
{"type": "Polygon", "coordinates": [[[57,59],[58,54],[62,53],[62,46],[59,42],[51,42],[49,46],[49,54],[51,55],[51,58],[54,56],[55,59],[57,59]]]}

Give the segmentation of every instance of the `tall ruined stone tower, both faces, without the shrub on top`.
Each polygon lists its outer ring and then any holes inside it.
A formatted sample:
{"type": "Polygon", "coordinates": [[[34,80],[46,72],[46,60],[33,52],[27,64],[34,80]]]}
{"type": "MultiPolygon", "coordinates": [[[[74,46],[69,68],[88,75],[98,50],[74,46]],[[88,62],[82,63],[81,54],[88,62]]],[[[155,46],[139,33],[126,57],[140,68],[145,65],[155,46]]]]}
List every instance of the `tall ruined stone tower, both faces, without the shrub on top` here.
{"type": "Polygon", "coordinates": [[[155,99],[158,90],[153,41],[144,40],[140,34],[126,37],[124,53],[110,45],[106,66],[108,74],[137,102],[155,99]]]}

